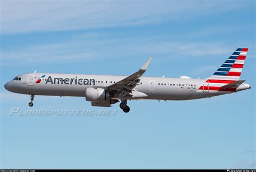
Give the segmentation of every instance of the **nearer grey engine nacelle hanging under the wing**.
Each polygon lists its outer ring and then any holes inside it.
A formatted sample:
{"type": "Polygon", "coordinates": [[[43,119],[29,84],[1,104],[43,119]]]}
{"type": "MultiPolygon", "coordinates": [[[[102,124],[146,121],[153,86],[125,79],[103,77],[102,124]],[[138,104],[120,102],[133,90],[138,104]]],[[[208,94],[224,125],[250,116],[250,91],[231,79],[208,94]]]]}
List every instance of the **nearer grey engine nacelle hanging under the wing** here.
{"type": "Polygon", "coordinates": [[[89,102],[105,102],[110,98],[109,92],[104,88],[87,88],[85,90],[85,99],[89,102]]]}

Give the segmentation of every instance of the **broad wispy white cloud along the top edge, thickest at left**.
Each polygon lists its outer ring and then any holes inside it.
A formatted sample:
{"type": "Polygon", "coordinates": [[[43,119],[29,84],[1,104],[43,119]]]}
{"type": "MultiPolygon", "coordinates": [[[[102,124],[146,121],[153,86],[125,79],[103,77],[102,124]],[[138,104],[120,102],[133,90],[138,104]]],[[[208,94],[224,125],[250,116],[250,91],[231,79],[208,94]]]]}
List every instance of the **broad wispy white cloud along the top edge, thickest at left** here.
{"type": "Polygon", "coordinates": [[[240,8],[237,3],[224,4],[218,1],[1,1],[1,34],[154,24],[240,8]]]}

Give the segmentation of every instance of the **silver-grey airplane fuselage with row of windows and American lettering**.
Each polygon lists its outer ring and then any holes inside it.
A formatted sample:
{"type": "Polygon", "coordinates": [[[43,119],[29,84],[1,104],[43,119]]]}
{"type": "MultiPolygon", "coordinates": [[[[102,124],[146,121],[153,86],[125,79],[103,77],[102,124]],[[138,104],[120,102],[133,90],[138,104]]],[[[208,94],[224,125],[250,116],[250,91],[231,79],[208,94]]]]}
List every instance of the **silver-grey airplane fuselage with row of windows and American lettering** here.
{"type": "MultiPolygon", "coordinates": [[[[26,95],[85,97],[87,88],[105,88],[123,80],[126,76],[30,73],[17,77],[21,80],[12,80],[6,83],[5,89],[26,95]],[[42,78],[42,75],[45,77],[42,78]],[[38,80],[41,81],[38,82],[38,80]]],[[[189,100],[229,94],[251,88],[248,84],[242,84],[236,91],[232,92],[209,90],[209,85],[205,85],[205,81],[192,78],[140,77],[140,82],[134,90],[146,94],[147,96],[143,99],[189,100]]],[[[112,98],[115,99],[115,97],[112,98]]],[[[116,97],[116,99],[118,98],[116,97]]]]}

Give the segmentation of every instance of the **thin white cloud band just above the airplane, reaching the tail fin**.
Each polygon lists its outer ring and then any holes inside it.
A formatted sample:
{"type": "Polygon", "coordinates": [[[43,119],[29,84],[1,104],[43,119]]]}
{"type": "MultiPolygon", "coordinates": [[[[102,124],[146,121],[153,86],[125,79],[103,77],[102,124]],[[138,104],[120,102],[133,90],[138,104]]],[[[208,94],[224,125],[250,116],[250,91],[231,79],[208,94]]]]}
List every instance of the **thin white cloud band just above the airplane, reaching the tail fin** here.
{"type": "MultiPolygon", "coordinates": [[[[230,45],[228,45],[230,46],[230,45]]],[[[207,55],[226,55],[233,52],[223,43],[209,42],[177,42],[154,41],[154,37],[147,40],[137,37],[125,39],[102,38],[99,35],[78,35],[66,42],[55,44],[25,46],[22,49],[5,51],[1,53],[2,65],[20,63],[62,63],[69,61],[98,60],[103,58],[133,58],[138,55],[156,56],[162,60],[193,56],[194,58],[207,57],[207,55]],[[145,41],[148,42],[145,44],[145,41]]]]}

